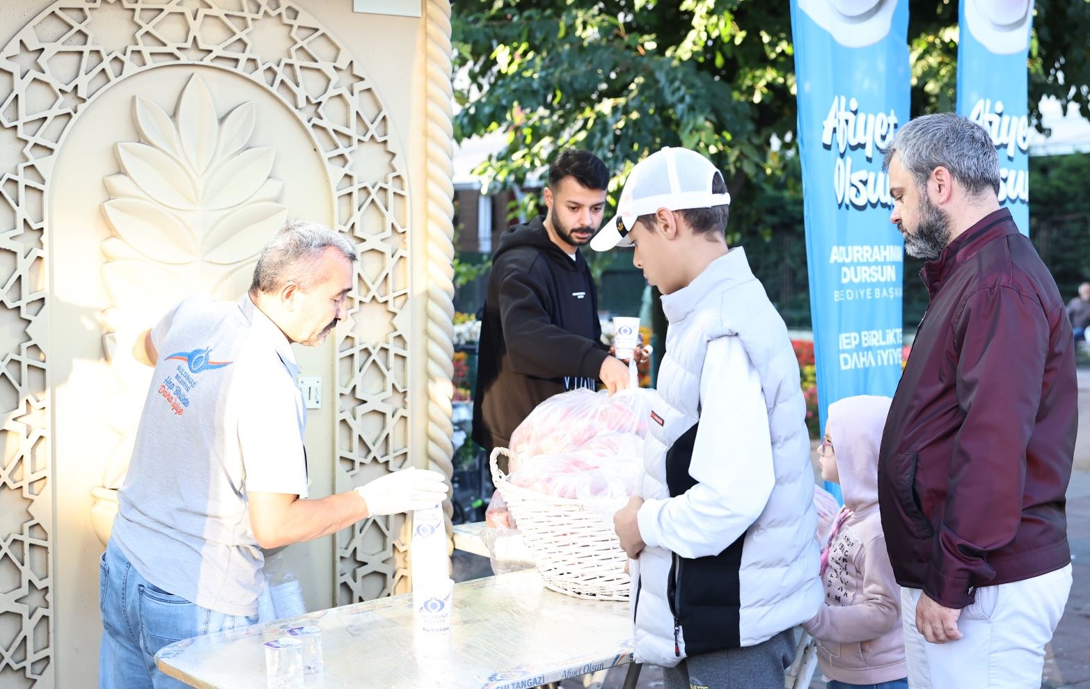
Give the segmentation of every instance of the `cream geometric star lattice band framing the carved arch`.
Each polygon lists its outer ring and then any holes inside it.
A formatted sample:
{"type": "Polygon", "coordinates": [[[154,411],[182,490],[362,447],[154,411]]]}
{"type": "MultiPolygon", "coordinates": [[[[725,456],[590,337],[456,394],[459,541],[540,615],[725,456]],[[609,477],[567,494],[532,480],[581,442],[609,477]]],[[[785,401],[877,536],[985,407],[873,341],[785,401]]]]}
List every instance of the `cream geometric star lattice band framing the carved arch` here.
{"type": "MultiPolygon", "coordinates": [[[[408,458],[408,185],[388,118],[362,68],[287,0],[53,3],[0,49],[5,687],[39,680],[48,686],[52,677],[45,191],[80,113],[112,83],[164,64],[244,75],[281,98],[308,128],[326,161],[337,227],[354,238],[360,255],[353,327],[338,348],[339,471],[362,483],[408,458]]],[[[371,520],[338,543],[338,602],[389,593],[403,576],[393,525],[371,520]]]]}

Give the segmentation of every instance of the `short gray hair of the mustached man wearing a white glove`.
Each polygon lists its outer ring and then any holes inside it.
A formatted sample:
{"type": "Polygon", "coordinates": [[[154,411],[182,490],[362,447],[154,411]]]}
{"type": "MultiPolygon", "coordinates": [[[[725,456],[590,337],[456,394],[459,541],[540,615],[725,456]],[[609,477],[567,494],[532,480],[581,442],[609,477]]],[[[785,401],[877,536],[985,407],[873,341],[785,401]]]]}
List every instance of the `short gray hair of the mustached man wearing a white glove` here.
{"type": "Polygon", "coordinates": [[[304,290],[314,280],[316,259],[332,246],[350,262],[355,261],[352,242],[318,222],[289,219],[262,249],[254,267],[250,292],[275,292],[293,281],[304,290]]]}

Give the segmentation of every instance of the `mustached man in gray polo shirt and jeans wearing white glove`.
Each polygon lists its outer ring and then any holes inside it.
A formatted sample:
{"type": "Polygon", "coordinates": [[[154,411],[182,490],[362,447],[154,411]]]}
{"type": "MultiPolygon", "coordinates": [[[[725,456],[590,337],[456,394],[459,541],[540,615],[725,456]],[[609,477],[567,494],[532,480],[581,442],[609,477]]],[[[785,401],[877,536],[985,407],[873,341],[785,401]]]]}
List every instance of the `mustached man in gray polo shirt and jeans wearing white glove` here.
{"type": "Polygon", "coordinates": [[[354,261],[343,235],[289,222],[240,301],[185,300],[137,339],[155,374],[101,558],[100,687],[184,686],[156,652],[256,622],[262,548],[446,497],[441,474],[407,469],[306,499],[291,343],[320,344],[344,318],[354,261]]]}

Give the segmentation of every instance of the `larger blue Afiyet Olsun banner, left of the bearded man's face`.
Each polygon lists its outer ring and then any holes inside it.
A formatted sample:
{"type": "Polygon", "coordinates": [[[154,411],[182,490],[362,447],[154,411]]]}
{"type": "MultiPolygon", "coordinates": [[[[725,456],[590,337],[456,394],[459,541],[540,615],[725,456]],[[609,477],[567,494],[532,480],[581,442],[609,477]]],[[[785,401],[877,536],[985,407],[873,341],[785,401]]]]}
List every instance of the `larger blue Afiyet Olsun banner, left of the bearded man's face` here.
{"type": "Polygon", "coordinates": [[[900,379],[904,240],[880,148],[909,118],[908,2],[791,0],[791,31],[824,430],[831,402],[900,379]]]}

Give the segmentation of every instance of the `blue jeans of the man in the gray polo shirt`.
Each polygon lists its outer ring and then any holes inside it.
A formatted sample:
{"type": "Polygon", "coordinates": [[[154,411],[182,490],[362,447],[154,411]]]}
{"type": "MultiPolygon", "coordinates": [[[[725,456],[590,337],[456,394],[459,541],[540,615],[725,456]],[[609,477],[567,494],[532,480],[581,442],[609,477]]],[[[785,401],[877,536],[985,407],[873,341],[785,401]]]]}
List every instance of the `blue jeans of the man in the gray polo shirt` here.
{"type": "Polygon", "coordinates": [[[102,645],[98,654],[100,689],[187,687],[155,666],[159,649],[201,634],[246,627],[257,615],[225,615],[190,603],[144,579],[113,541],[99,563],[98,604],[102,645]]]}

